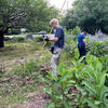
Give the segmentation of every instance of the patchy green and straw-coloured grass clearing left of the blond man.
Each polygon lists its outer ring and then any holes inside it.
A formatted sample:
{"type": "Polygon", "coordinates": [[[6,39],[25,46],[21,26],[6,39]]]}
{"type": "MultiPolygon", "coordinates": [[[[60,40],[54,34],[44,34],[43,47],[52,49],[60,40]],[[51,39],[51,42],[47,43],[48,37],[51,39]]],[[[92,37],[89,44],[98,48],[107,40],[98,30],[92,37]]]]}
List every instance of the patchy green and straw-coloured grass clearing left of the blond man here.
{"type": "MultiPolygon", "coordinates": [[[[0,73],[0,105],[12,106],[31,99],[43,92],[44,73],[40,71],[43,65],[50,65],[52,54],[49,46],[41,52],[42,42],[5,42],[5,48],[0,51],[0,63],[4,68],[0,73]],[[22,64],[22,58],[26,64],[22,64]],[[29,95],[35,93],[35,95],[29,95]]],[[[70,64],[71,56],[63,52],[62,62],[70,64]]]]}

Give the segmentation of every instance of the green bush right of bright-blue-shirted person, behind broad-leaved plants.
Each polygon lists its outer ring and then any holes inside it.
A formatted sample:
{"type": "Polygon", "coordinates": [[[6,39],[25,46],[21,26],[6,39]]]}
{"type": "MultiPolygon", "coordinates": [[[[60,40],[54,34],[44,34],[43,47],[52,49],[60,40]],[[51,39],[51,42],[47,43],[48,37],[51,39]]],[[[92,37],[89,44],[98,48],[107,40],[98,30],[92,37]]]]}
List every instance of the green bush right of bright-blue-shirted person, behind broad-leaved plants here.
{"type": "Polygon", "coordinates": [[[87,42],[86,52],[98,57],[98,59],[103,64],[104,70],[108,69],[107,43],[100,41],[90,42],[89,38],[86,38],[86,42],[87,42]]]}

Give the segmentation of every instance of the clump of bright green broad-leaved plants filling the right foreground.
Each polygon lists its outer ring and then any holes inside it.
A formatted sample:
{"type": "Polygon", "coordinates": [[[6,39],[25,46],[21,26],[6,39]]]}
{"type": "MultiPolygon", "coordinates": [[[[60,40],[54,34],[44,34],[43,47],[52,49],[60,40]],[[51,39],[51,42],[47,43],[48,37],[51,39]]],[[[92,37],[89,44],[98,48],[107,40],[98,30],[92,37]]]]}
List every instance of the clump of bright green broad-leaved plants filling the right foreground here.
{"type": "Polygon", "coordinates": [[[54,78],[52,71],[44,79],[48,87],[44,91],[51,95],[51,103],[46,108],[107,108],[108,87],[105,85],[106,70],[97,57],[87,55],[79,59],[79,52],[75,50],[75,59],[70,68],[60,64],[59,78],[54,78]],[[76,93],[75,93],[76,91],[76,93]]]}

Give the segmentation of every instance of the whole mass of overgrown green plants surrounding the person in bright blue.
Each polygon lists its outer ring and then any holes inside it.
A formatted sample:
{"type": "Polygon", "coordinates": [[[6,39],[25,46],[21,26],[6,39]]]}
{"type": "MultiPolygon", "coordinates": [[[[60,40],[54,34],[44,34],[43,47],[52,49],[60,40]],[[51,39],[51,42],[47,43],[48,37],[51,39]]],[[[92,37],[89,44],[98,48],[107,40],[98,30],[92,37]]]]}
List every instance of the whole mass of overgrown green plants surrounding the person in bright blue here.
{"type": "MultiPolygon", "coordinates": [[[[75,36],[79,33],[76,27],[75,36]]],[[[72,33],[73,35],[73,33],[72,33]]],[[[79,59],[77,37],[67,37],[66,51],[70,52],[68,66],[58,67],[59,78],[54,82],[52,71],[44,78],[51,103],[46,108],[107,108],[108,107],[108,44],[90,41],[86,37],[86,57],[79,59]]]]}

